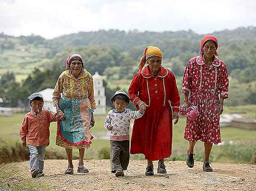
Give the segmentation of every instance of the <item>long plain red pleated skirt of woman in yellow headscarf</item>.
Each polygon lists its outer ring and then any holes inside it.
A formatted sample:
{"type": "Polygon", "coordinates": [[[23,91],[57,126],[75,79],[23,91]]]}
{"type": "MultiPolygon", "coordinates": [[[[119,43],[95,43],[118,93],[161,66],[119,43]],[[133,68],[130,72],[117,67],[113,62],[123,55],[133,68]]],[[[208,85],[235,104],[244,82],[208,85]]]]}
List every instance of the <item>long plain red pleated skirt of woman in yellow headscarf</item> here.
{"type": "Polygon", "coordinates": [[[160,160],[172,154],[172,110],[147,108],[142,118],[135,119],[131,154],[144,154],[145,159],[160,160]]]}

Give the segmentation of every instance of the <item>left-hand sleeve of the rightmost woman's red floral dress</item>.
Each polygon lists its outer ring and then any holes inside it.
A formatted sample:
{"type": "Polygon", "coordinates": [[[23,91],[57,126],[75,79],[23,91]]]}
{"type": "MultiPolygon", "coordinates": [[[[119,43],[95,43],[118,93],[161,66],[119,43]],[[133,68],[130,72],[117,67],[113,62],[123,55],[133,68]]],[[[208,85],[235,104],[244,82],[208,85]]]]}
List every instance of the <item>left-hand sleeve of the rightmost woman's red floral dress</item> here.
{"type": "Polygon", "coordinates": [[[183,81],[182,81],[181,92],[184,94],[189,94],[191,90],[192,74],[193,74],[193,66],[192,66],[192,63],[189,61],[184,70],[183,81]]]}

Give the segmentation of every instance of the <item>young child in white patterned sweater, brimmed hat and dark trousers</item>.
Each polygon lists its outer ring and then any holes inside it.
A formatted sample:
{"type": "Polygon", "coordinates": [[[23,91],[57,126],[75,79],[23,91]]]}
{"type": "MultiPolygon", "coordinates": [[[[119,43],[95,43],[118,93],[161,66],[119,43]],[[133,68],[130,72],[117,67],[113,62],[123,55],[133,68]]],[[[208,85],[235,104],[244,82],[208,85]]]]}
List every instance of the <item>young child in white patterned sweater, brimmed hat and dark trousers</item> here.
{"type": "Polygon", "coordinates": [[[123,90],[117,90],[111,102],[115,109],[108,112],[104,121],[104,127],[110,131],[111,172],[116,173],[116,177],[123,177],[130,159],[130,120],[142,117],[143,112],[125,108],[130,98],[123,90]]]}

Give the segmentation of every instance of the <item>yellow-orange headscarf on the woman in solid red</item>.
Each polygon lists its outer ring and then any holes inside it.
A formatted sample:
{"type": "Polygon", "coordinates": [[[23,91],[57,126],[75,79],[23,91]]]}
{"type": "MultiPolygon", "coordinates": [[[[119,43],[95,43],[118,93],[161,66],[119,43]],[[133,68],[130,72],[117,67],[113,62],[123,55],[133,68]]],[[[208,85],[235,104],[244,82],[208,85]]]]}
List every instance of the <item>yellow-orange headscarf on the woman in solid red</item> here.
{"type": "Polygon", "coordinates": [[[140,58],[139,71],[141,71],[143,66],[146,64],[146,59],[151,56],[158,56],[160,58],[163,58],[163,52],[160,48],[156,46],[148,46],[147,48],[145,48],[144,54],[142,58],[140,58]]]}

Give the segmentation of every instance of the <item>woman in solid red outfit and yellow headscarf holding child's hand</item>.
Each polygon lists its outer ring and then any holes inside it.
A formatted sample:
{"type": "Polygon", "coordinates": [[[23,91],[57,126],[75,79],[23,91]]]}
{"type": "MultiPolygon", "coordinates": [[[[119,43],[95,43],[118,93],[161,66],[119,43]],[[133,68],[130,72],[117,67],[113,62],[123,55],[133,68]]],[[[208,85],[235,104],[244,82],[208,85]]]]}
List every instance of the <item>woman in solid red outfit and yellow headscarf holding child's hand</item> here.
{"type": "Polygon", "coordinates": [[[176,80],[174,74],[161,65],[162,56],[158,47],[148,46],[140,60],[139,72],[129,87],[130,100],[135,107],[146,108],[143,117],[134,120],[130,153],[145,155],[147,176],[154,175],[153,160],[159,160],[157,173],[166,173],[164,158],[172,154],[172,119],[175,118],[174,124],[179,120],[176,80]]]}

